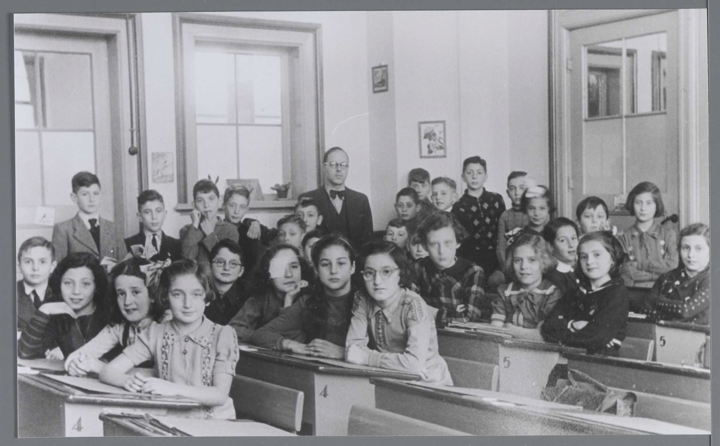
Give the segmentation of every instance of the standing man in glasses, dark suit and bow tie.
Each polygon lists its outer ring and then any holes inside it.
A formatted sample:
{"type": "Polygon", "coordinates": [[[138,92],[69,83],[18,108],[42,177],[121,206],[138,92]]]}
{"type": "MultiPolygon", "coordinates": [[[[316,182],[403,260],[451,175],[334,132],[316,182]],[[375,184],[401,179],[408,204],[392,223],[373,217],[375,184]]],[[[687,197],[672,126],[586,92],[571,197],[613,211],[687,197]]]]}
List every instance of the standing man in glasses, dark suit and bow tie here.
{"type": "Polygon", "coordinates": [[[309,196],[315,199],[323,214],[322,226],[330,233],[338,233],[350,240],[356,250],[372,240],[372,211],[365,194],[345,186],[349,158],[345,150],[333,147],[323,156],[325,185],[300,194],[298,200],[309,196]]]}

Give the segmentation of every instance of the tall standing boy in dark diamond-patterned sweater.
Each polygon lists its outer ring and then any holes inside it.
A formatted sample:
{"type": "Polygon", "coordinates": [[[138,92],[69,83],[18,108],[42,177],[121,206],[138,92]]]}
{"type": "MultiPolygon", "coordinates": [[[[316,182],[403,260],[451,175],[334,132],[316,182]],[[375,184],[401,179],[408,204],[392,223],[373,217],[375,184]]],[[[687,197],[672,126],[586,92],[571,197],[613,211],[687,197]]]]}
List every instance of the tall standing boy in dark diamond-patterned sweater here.
{"type": "Polygon", "coordinates": [[[460,247],[460,255],[482,268],[485,276],[498,270],[498,222],[505,212],[505,201],[500,194],[486,191],[487,163],[479,156],[471,156],[462,163],[462,179],[467,184],[465,193],[452,206],[452,213],[468,232],[469,237],[460,247]]]}

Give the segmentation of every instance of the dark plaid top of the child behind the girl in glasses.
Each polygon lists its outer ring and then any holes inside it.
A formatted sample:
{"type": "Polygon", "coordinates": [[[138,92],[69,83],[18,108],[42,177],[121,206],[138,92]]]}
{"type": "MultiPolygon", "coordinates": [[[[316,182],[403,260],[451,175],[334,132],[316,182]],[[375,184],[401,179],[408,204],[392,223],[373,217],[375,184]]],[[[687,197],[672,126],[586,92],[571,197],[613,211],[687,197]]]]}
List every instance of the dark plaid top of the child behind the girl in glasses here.
{"type": "Polygon", "coordinates": [[[490,301],[485,296],[485,274],[482,268],[456,258],[450,268],[439,270],[431,258],[421,258],[413,263],[415,281],[410,289],[418,293],[429,306],[446,309],[448,319],[480,321],[490,319],[490,301]],[[467,311],[458,312],[457,306],[464,304],[467,311]]]}

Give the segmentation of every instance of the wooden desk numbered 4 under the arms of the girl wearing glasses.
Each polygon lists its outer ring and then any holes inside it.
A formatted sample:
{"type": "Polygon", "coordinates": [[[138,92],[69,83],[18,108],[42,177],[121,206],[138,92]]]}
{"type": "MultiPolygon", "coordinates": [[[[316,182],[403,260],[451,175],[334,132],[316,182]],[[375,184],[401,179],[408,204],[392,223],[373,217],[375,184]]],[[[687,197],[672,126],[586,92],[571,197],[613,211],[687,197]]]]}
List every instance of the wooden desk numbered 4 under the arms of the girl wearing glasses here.
{"type": "Polygon", "coordinates": [[[274,350],[240,352],[238,375],[294,388],[305,393],[302,407],[302,433],[347,435],[348,417],[353,404],[375,406],[375,393],[369,378],[419,380],[408,373],[336,362],[320,363],[274,350]],[[344,366],[339,365],[340,363],[344,366]]]}

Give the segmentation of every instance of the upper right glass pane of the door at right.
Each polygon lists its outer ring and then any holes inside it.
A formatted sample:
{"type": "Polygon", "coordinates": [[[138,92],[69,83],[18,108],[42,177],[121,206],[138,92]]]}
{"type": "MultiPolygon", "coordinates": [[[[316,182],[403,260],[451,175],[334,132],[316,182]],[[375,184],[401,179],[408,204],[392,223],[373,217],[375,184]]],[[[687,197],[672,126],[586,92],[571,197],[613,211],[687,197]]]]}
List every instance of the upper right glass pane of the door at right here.
{"type": "Polygon", "coordinates": [[[667,33],[632,37],[625,40],[627,55],[634,55],[634,71],[628,75],[637,90],[636,107],[628,101],[627,113],[647,113],[665,110],[665,76],[667,62],[667,33]]]}

